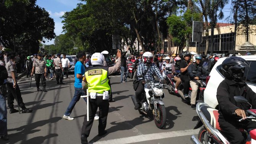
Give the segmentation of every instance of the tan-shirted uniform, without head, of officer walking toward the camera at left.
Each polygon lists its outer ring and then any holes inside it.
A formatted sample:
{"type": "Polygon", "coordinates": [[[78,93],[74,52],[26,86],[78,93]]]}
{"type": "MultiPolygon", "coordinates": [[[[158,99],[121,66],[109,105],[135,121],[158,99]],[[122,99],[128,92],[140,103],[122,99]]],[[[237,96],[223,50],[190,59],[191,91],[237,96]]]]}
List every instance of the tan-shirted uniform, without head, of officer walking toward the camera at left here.
{"type": "Polygon", "coordinates": [[[41,79],[41,83],[43,86],[43,89],[45,89],[46,86],[46,79],[44,76],[45,73],[45,68],[46,68],[46,63],[44,60],[34,60],[33,61],[33,67],[35,68],[35,78],[36,78],[36,87],[37,89],[39,89],[39,85],[40,85],[40,79],[41,79]]]}

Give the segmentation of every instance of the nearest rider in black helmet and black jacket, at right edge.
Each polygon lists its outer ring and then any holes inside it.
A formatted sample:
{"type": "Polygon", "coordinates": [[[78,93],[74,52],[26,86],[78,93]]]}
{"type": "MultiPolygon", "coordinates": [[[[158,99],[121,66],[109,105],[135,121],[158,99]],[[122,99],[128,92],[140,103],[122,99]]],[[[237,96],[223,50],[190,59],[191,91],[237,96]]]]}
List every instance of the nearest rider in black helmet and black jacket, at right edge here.
{"type": "Polygon", "coordinates": [[[256,93],[242,80],[249,63],[241,57],[228,57],[222,63],[222,73],[225,79],[217,89],[217,100],[219,103],[219,125],[224,135],[232,144],[243,144],[245,139],[239,128],[255,129],[255,121],[238,122],[240,118],[245,119],[245,110],[250,109],[250,105],[236,103],[234,96],[245,97],[252,108],[256,108],[256,93]],[[236,113],[237,116],[232,115],[236,113]]]}

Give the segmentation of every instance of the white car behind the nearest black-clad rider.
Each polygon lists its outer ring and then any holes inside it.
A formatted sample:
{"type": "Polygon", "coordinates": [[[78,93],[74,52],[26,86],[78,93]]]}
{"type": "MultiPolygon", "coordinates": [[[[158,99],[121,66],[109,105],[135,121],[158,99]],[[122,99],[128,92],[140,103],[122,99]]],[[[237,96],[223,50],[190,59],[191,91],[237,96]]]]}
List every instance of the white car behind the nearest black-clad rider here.
{"type": "MultiPolygon", "coordinates": [[[[243,79],[246,84],[248,84],[248,86],[254,92],[256,92],[256,55],[244,55],[239,57],[244,58],[250,64],[250,69],[245,69],[243,79]]],[[[219,109],[218,101],[216,98],[217,88],[225,78],[221,73],[222,62],[225,60],[225,58],[227,57],[220,58],[212,68],[212,71],[207,78],[209,81],[207,83],[206,89],[204,90],[204,102],[210,107],[216,109],[219,109]]]]}

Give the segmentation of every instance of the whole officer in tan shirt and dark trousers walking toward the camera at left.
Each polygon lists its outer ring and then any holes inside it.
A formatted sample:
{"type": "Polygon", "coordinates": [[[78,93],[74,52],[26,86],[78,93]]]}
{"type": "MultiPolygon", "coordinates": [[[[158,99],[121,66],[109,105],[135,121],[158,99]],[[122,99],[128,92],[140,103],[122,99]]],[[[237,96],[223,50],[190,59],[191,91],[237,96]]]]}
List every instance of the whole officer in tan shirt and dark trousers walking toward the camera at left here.
{"type": "Polygon", "coordinates": [[[33,75],[33,73],[35,72],[35,78],[36,78],[36,87],[37,87],[37,91],[42,91],[42,89],[39,88],[40,85],[40,79],[41,79],[41,83],[43,86],[43,91],[47,92],[45,89],[46,86],[46,79],[45,77],[47,76],[46,72],[46,63],[44,60],[42,60],[42,55],[38,54],[37,55],[37,59],[33,61],[33,68],[32,68],[32,72],[31,72],[31,76],[33,75]]]}

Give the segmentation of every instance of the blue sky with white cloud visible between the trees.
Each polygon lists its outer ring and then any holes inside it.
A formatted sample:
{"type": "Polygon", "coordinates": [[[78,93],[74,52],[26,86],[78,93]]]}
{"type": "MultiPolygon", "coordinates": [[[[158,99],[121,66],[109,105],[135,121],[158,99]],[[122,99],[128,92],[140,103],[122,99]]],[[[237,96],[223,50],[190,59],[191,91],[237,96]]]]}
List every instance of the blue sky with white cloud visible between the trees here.
{"type": "MultiPolygon", "coordinates": [[[[224,19],[218,20],[219,23],[229,23],[227,21],[227,17],[230,15],[230,8],[231,8],[231,0],[228,5],[224,7],[224,19]]],[[[53,18],[55,22],[55,34],[56,36],[63,34],[62,31],[62,26],[63,24],[61,23],[63,19],[60,17],[64,15],[66,11],[71,11],[74,8],[76,8],[76,5],[78,3],[85,3],[81,2],[80,0],[37,0],[36,4],[42,8],[45,8],[46,11],[49,12],[50,17],[53,18]]],[[[54,39],[53,40],[45,40],[45,44],[54,44],[54,39]]]]}

